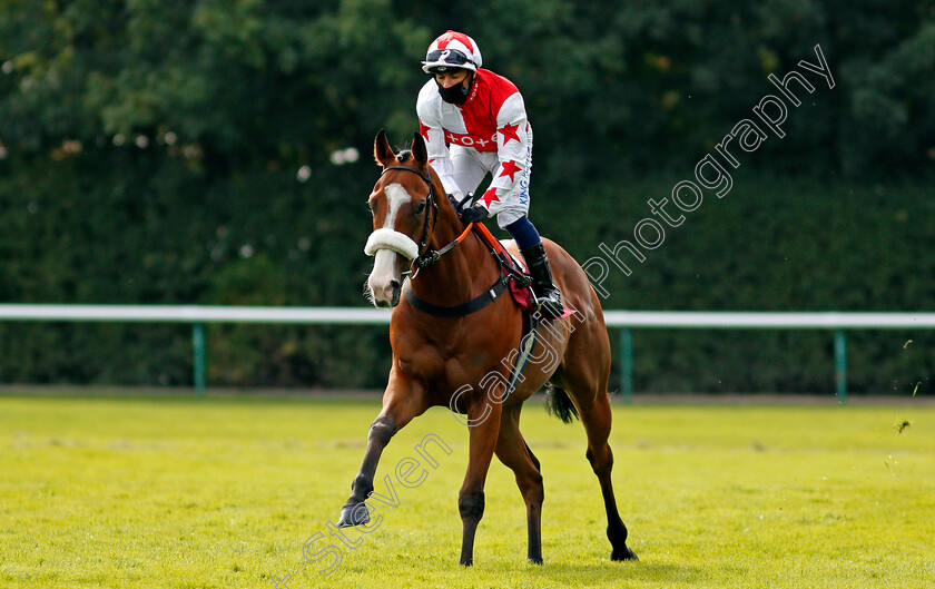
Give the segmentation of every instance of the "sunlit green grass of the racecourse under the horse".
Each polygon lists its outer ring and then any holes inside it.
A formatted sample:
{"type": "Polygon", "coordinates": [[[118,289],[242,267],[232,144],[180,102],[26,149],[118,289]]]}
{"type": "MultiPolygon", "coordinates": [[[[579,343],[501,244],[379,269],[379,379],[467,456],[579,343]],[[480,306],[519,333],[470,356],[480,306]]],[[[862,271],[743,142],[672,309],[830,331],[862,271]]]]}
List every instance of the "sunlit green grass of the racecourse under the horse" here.
{"type": "MultiPolygon", "coordinates": [[[[338,510],[376,401],[0,396],[0,587],[932,587],[935,408],[614,408],[614,484],[639,562],[611,562],[580,423],[528,406],[545,479],[541,567],[494,461],[475,566],[457,566],[466,432],[435,409],[436,469],[360,547],[303,562],[338,510]],[[902,433],[898,425],[909,421],[902,433]],[[285,585],[284,585],[285,586],[285,585]]],[[[423,462],[424,463],[424,462],[423,462]]],[[[391,479],[395,482],[395,479],[391,479]]],[[[336,540],[326,539],[315,550],[336,540]]]]}

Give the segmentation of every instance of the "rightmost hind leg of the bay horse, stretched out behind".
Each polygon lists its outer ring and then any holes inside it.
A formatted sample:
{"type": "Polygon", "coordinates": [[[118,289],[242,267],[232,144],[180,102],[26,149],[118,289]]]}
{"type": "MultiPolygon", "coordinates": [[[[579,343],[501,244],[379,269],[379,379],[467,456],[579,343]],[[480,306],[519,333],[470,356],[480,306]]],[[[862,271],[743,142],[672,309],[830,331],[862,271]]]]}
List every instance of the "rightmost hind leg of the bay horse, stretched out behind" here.
{"type": "MultiPolygon", "coordinates": [[[[604,331],[604,334],[607,332],[604,331]]],[[[572,334],[574,337],[588,337],[585,327],[572,334]]],[[[607,511],[607,538],[612,547],[611,560],[637,560],[637,554],[627,547],[627,527],[620,519],[617,510],[617,500],[613,497],[613,484],[610,480],[610,471],[613,468],[613,452],[608,444],[610,436],[610,401],[607,396],[607,379],[610,374],[610,344],[607,336],[599,338],[592,336],[587,345],[574,345],[572,340],[569,350],[578,350],[565,357],[561,374],[562,383],[571,392],[574,404],[578,408],[581,423],[588,434],[588,462],[591,463],[598,481],[601,483],[604,509],[607,511]],[[596,345],[598,344],[603,345],[596,345]],[[589,351],[587,354],[584,351],[589,351]],[[606,354],[598,353],[602,350],[606,354]]],[[[558,394],[562,394],[559,392],[558,394]]]]}

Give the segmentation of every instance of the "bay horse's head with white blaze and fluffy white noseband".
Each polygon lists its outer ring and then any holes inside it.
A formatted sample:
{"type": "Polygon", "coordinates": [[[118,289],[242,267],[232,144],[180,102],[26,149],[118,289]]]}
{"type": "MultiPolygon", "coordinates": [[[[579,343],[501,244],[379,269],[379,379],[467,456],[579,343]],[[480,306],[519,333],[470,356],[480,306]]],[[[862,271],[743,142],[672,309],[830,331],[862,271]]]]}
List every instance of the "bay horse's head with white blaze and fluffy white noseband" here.
{"type": "Polygon", "coordinates": [[[413,137],[412,150],[397,155],[381,130],[373,154],[383,174],[368,200],[373,233],[364,253],[374,256],[374,263],[366,289],[376,306],[393,307],[400,302],[405,268],[425,247],[437,204],[425,143],[419,134],[413,137]]]}

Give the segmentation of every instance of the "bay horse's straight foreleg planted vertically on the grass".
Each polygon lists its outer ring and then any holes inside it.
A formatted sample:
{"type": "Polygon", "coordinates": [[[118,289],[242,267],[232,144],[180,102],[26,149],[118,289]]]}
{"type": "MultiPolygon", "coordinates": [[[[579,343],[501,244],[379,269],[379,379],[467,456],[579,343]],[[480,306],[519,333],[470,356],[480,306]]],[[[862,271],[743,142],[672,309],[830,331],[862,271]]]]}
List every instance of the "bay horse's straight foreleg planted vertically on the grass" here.
{"type": "Polygon", "coordinates": [[[491,403],[486,397],[474,402],[468,409],[470,428],[470,454],[464,484],[457,494],[457,510],[464,531],[461,538],[461,565],[474,563],[474,533],[484,516],[484,481],[496,448],[500,431],[500,403],[491,403]]]}

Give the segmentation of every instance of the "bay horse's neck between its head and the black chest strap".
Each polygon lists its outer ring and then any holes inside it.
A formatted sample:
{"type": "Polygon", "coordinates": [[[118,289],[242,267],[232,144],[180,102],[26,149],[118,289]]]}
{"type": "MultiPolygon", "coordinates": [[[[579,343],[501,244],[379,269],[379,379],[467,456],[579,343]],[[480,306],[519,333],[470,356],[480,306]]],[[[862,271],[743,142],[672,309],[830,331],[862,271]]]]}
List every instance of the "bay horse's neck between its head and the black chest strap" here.
{"type": "MultiPolygon", "coordinates": [[[[443,213],[440,212],[441,223],[429,242],[430,247],[435,251],[453,242],[463,232],[454,212],[450,212],[451,218],[444,219],[443,213]]],[[[498,273],[499,269],[486,247],[476,235],[469,235],[437,262],[422,268],[410,286],[420,298],[432,304],[451,306],[490,288],[498,273]]]]}

